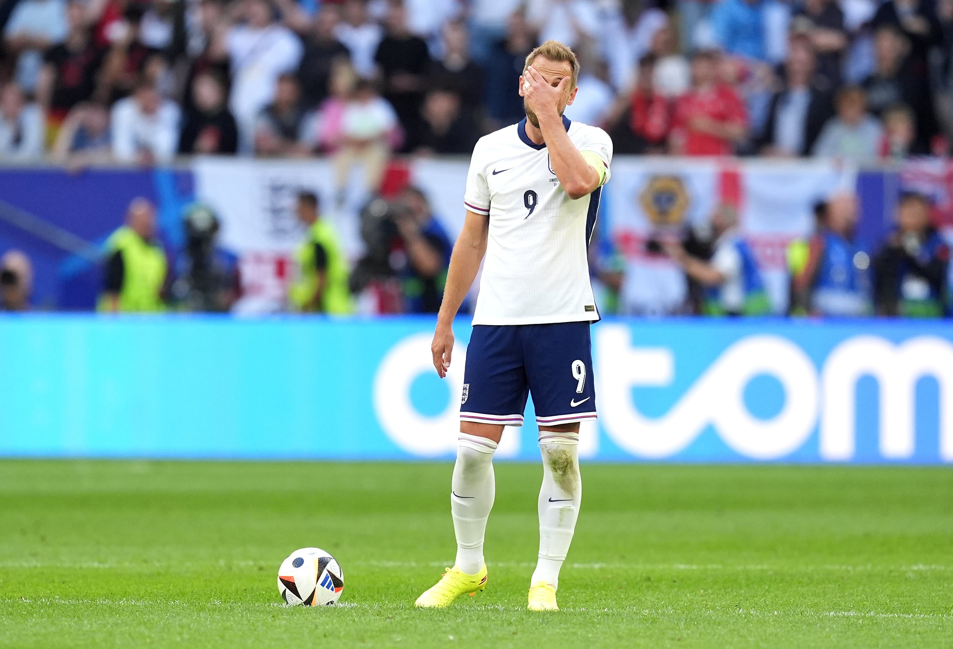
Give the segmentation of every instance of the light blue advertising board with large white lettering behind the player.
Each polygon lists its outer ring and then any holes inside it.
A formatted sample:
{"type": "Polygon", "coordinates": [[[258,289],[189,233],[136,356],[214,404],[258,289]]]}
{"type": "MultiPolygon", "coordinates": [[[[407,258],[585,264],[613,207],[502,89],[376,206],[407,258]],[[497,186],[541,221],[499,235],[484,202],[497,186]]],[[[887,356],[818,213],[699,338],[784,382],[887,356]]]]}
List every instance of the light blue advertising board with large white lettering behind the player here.
{"type": "MultiPolygon", "coordinates": [[[[450,458],[471,328],[440,380],[434,324],[0,317],[0,456],[450,458]]],[[[953,461],[942,323],[607,318],[593,344],[587,460],[953,461]]],[[[526,421],[498,457],[537,459],[526,421]]]]}

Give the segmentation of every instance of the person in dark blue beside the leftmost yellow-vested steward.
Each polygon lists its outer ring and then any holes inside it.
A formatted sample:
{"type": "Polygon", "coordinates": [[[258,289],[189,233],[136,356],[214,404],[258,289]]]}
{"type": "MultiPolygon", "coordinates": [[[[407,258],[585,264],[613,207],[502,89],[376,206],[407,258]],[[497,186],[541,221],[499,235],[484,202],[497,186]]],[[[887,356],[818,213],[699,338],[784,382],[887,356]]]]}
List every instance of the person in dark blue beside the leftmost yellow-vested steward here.
{"type": "Polygon", "coordinates": [[[172,298],[179,309],[224,313],[241,296],[238,258],[216,245],[218,217],[201,204],[186,208],[182,218],[185,248],[175,260],[172,298]]]}

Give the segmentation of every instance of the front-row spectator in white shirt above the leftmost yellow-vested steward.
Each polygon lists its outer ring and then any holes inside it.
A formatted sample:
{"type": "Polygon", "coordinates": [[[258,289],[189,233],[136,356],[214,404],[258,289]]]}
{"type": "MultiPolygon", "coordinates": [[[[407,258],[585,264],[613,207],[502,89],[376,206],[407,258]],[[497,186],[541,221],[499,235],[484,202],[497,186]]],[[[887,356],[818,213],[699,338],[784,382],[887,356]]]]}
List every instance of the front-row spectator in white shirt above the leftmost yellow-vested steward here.
{"type": "Polygon", "coordinates": [[[179,108],[142,83],[112,106],[112,155],[150,166],[172,160],[178,147],[179,108]]]}

